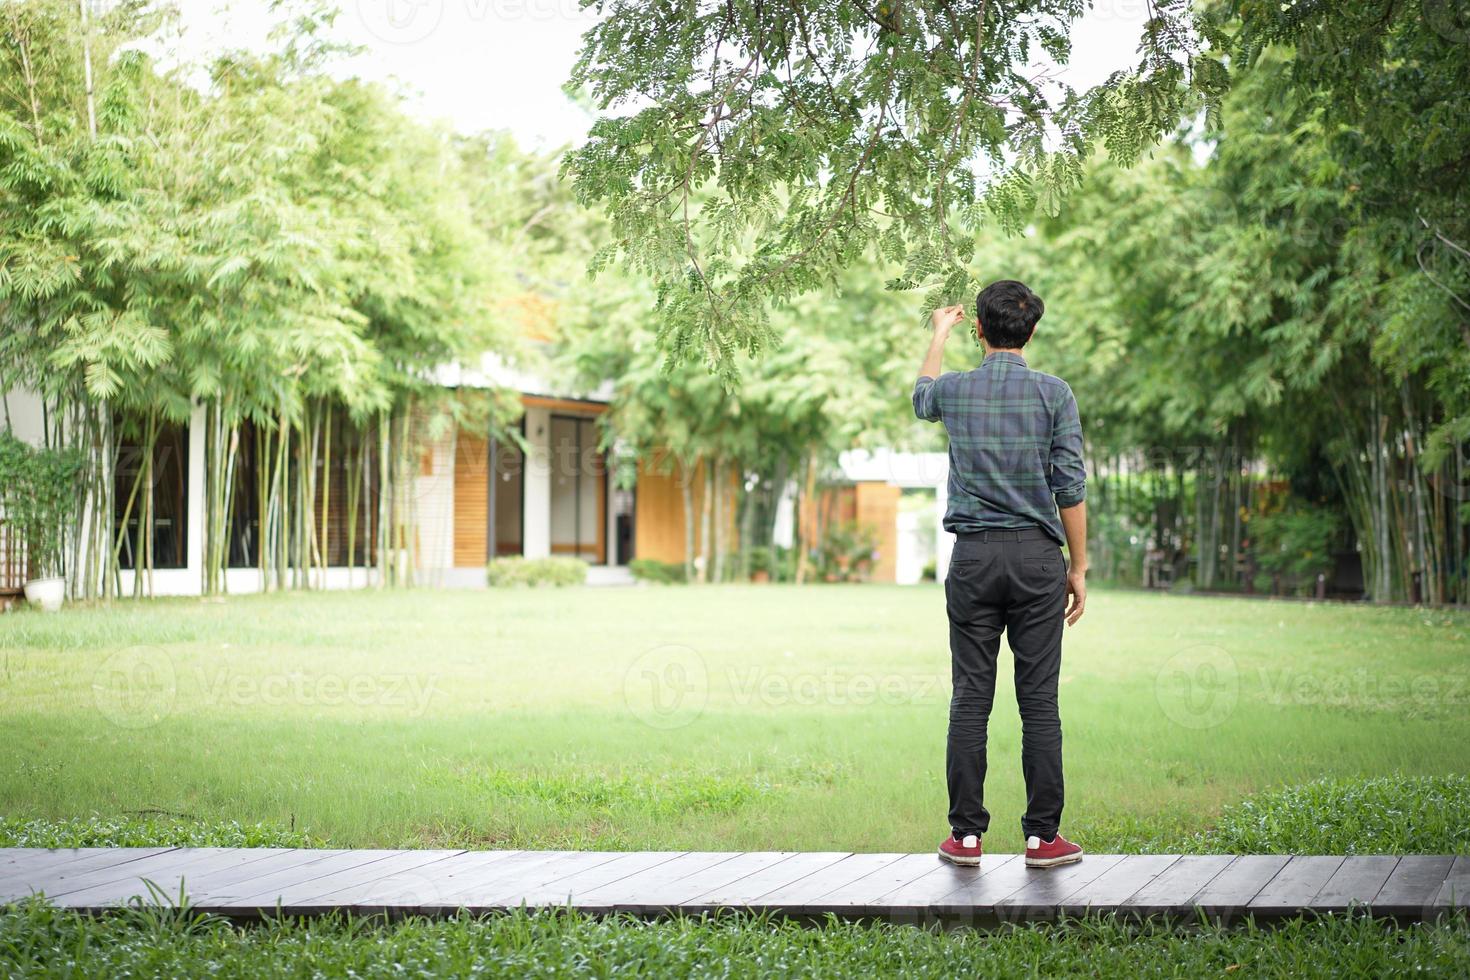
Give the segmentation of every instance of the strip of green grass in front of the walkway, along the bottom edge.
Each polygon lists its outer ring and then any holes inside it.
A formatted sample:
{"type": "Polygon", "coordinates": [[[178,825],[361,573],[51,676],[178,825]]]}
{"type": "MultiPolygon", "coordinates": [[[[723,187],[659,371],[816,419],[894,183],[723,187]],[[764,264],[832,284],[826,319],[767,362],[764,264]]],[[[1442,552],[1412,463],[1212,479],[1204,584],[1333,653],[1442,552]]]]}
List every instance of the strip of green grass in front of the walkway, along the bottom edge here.
{"type": "Polygon", "coordinates": [[[750,915],[672,921],[514,912],[445,921],[284,920],[237,927],[179,912],[88,918],[40,902],[0,912],[0,970],[32,977],[1396,977],[1470,974],[1464,920],[1366,918],[1176,929],[1091,918],[936,933],[750,915]]]}

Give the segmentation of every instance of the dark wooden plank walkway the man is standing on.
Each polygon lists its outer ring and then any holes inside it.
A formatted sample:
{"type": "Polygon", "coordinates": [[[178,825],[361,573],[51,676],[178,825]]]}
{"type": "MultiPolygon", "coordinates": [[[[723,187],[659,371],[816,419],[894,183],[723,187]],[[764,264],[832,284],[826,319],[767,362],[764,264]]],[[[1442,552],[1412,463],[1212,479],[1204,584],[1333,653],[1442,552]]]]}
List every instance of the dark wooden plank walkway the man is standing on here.
{"type": "Polygon", "coordinates": [[[1402,921],[1470,904],[1467,857],[1088,855],[1051,870],[985,855],[698,851],[326,851],[272,848],[0,849],[0,904],[44,893],[103,911],[134,898],[232,917],[279,912],[445,915],[575,907],[639,915],[785,915],[1000,923],[1091,911],[1245,917],[1372,909],[1402,921]]]}

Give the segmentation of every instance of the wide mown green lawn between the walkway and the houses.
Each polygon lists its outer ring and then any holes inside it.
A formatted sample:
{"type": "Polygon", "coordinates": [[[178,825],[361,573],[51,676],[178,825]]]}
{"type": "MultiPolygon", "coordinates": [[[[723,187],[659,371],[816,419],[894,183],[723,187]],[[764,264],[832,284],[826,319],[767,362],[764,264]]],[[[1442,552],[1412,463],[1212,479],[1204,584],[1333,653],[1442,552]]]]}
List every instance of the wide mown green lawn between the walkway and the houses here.
{"type": "MultiPolygon", "coordinates": [[[[1324,776],[1470,770],[1470,617],[1097,591],[1064,830],[1191,843],[1324,776]]],[[[1007,657],[1003,649],[1003,660],[1007,657]]],[[[938,588],[176,599],[0,617],[0,814],[162,813],[340,846],[928,851],[938,588]]],[[[1020,846],[1008,671],[988,846],[1020,846]]]]}

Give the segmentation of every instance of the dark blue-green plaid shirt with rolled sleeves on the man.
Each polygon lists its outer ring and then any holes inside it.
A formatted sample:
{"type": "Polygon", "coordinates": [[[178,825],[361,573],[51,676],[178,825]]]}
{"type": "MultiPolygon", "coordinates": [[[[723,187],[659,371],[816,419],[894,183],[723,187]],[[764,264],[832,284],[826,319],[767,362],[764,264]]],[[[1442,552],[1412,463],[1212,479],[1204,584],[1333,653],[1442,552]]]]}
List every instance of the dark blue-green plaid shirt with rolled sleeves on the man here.
{"type": "Polygon", "coordinates": [[[1064,544],[1058,507],[1086,497],[1082,422],[1067,382],[991,354],[975,370],[914,382],[914,414],[950,433],[945,530],[1042,527],[1064,544]]]}

